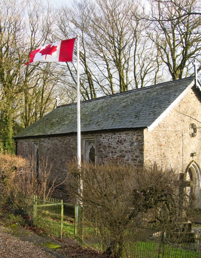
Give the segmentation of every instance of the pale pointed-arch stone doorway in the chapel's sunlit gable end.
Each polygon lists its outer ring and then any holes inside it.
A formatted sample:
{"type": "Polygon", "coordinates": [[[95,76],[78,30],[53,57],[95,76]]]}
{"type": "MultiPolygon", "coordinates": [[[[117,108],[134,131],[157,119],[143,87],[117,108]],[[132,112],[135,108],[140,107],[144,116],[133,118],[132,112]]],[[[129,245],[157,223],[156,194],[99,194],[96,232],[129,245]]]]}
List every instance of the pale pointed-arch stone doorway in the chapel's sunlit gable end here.
{"type": "Polygon", "coordinates": [[[200,167],[192,161],[186,169],[186,205],[190,208],[201,208],[201,172],[200,167]]]}

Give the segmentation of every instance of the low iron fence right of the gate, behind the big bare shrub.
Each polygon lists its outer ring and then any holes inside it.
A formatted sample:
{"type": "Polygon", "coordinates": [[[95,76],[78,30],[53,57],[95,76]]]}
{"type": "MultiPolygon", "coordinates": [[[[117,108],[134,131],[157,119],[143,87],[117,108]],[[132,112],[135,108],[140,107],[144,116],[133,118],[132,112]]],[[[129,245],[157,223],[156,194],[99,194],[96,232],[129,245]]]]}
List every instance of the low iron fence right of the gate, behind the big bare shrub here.
{"type": "MultiPolygon", "coordinates": [[[[84,246],[103,252],[109,249],[114,236],[107,228],[99,227],[96,219],[95,215],[82,212],[82,219],[77,223],[77,239],[84,246]]],[[[168,232],[156,226],[136,228],[130,225],[124,232],[121,258],[201,258],[201,231],[187,232],[185,237],[185,232],[180,232],[180,239],[168,232]]]]}

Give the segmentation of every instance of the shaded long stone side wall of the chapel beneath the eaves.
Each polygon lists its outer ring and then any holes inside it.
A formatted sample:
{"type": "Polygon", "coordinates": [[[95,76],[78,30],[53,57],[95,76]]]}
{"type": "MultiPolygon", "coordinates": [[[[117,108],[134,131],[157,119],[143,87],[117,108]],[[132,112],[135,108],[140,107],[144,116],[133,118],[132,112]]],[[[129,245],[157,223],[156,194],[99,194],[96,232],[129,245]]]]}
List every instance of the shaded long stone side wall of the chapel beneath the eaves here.
{"type": "MultiPolygon", "coordinates": [[[[82,134],[82,139],[85,138],[95,139],[97,161],[122,159],[136,164],[143,163],[143,129],[82,134]]],[[[76,134],[18,139],[17,155],[25,158],[31,156],[31,145],[33,141],[38,141],[39,143],[39,164],[41,165],[43,160],[47,160],[47,170],[51,166],[50,181],[56,178],[55,184],[61,183],[68,174],[66,168],[67,162],[77,156],[76,134]]],[[[56,194],[54,195],[56,198],[63,199],[64,202],[70,201],[67,193],[68,184],[72,184],[70,179],[71,175],[68,176],[65,185],[60,186],[60,189],[56,190],[56,194]]]]}

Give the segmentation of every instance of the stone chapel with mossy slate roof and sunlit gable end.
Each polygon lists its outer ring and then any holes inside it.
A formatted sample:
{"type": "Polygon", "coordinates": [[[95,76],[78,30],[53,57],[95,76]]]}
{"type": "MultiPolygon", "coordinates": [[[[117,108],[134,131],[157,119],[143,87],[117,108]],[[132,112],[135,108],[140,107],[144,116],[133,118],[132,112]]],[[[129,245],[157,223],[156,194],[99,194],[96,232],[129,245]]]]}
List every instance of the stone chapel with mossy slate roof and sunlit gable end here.
{"type": "MultiPolygon", "coordinates": [[[[81,102],[82,159],[123,159],[167,164],[184,175],[195,208],[201,208],[201,87],[194,77],[159,83],[81,102]]],[[[66,177],[77,152],[77,104],[58,106],[13,137],[16,154],[52,163],[66,177]]],[[[65,185],[56,198],[68,202],[65,185]]]]}

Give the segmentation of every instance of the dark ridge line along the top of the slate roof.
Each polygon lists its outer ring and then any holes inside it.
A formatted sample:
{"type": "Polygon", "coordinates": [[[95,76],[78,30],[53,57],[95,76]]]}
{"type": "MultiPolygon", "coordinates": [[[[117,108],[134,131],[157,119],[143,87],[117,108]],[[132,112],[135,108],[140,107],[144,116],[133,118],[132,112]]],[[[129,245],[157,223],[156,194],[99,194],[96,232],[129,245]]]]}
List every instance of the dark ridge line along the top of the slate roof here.
{"type": "MultiPolygon", "coordinates": [[[[111,98],[111,97],[115,97],[117,95],[129,94],[131,92],[148,90],[150,88],[155,88],[155,87],[161,86],[161,84],[174,83],[175,81],[178,81],[178,80],[181,81],[181,80],[187,80],[187,79],[190,79],[190,78],[194,79],[194,76],[190,76],[190,77],[186,77],[186,78],[182,78],[182,79],[177,79],[177,80],[171,80],[171,81],[168,81],[168,82],[160,82],[160,83],[150,85],[150,86],[145,86],[145,87],[142,87],[142,88],[139,88],[139,89],[127,90],[127,91],[124,91],[124,92],[117,92],[117,93],[114,93],[114,94],[111,94],[111,95],[101,96],[101,97],[94,98],[94,99],[91,99],[91,100],[84,100],[84,101],[81,101],[80,104],[86,103],[86,102],[92,102],[92,101],[96,101],[96,100],[100,100],[100,99],[104,99],[104,98],[111,98]]],[[[60,105],[60,106],[57,106],[56,108],[67,107],[67,106],[71,106],[71,105],[75,105],[75,104],[77,104],[77,102],[60,105]]]]}

